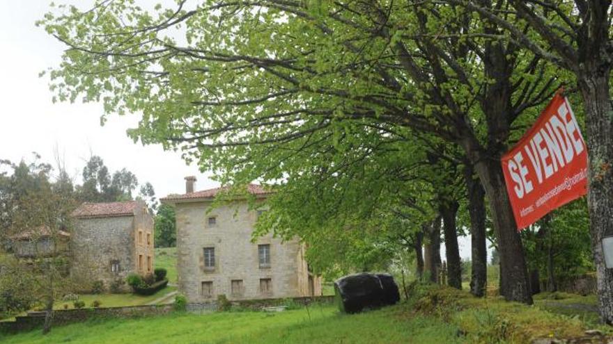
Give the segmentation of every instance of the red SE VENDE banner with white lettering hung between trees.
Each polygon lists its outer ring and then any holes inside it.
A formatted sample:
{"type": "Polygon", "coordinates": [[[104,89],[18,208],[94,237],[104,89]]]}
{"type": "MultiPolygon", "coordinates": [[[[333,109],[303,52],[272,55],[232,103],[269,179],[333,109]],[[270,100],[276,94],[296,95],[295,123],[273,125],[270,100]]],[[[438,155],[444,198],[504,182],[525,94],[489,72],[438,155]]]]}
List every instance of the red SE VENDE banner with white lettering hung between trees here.
{"type": "Polygon", "coordinates": [[[587,193],[587,146],[568,99],[555,95],[502,171],[518,230],[587,193]]]}

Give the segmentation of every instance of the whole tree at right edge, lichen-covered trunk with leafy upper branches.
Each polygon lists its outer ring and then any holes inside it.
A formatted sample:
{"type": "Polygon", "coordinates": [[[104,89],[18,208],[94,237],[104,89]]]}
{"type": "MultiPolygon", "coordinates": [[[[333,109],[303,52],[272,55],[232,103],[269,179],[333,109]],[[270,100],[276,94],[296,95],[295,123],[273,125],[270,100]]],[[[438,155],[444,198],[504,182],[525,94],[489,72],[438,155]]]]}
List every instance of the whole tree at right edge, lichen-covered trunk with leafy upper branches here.
{"type": "MultiPolygon", "coordinates": [[[[583,100],[589,147],[588,206],[600,316],[613,324],[613,270],[605,266],[602,239],[613,234],[612,1],[519,1],[498,13],[489,1],[453,0],[502,28],[532,54],[575,76],[583,100]],[[509,18],[518,17],[520,26],[509,18]]],[[[493,37],[492,37],[493,38],[493,37]]],[[[495,39],[503,38],[498,35],[495,39]]],[[[505,40],[509,38],[504,35],[505,40]]],[[[573,85],[574,83],[571,83],[573,85]]]]}

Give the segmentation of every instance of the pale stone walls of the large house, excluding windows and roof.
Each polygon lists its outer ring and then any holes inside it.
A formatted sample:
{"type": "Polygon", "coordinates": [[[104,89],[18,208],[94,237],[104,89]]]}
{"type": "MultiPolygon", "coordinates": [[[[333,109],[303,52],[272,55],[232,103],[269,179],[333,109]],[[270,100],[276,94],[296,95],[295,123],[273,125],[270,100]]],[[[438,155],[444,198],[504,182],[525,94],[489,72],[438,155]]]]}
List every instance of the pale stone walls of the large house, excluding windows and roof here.
{"type": "Polygon", "coordinates": [[[228,300],[309,295],[304,249],[297,240],[282,243],[272,235],[251,243],[256,211],[246,201],[210,209],[210,202],[176,204],[177,268],[179,290],[189,302],[208,302],[224,294],[228,300]],[[208,224],[215,218],[215,225],[208,224]],[[260,268],[258,245],[270,245],[270,268],[260,268]],[[215,248],[215,268],[204,267],[204,247],[215,248]],[[260,280],[271,279],[272,292],[260,291],[260,280]],[[232,293],[233,280],[242,281],[232,293]],[[212,295],[202,293],[202,283],[212,282],[212,295]]]}

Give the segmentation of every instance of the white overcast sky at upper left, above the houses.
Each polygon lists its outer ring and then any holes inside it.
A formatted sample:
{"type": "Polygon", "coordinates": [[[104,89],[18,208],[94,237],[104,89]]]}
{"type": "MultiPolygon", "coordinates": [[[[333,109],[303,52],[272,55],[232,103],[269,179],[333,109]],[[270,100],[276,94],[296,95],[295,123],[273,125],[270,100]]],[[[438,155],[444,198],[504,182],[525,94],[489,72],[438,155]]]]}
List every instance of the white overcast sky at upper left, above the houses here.
{"type": "MultiPolygon", "coordinates": [[[[110,116],[100,126],[100,104],[53,104],[48,79],[38,73],[59,65],[63,45],[34,25],[47,12],[49,0],[0,0],[0,4],[0,158],[30,160],[36,151],[52,163],[57,150],[80,183],[85,161],[95,154],[109,170],[125,167],[139,182],[152,183],[158,198],[184,193],[187,175],[198,178],[196,189],[218,186],[207,177],[209,173],[186,165],[179,153],[130,140],[126,130],[136,126],[138,115],[110,116]]],[[[460,255],[470,257],[470,238],[460,238],[459,244],[460,255]]]]}

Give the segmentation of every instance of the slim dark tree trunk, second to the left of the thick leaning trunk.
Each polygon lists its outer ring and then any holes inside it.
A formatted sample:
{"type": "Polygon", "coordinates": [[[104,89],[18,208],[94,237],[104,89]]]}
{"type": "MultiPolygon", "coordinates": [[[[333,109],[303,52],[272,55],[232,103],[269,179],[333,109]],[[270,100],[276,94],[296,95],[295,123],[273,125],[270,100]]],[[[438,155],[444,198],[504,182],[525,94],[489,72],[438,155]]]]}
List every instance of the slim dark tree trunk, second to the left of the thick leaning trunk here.
{"type": "Polygon", "coordinates": [[[445,252],[447,253],[447,281],[449,286],[462,289],[462,262],[458,248],[456,215],[460,204],[457,201],[442,201],[439,206],[443,218],[445,252]]]}

